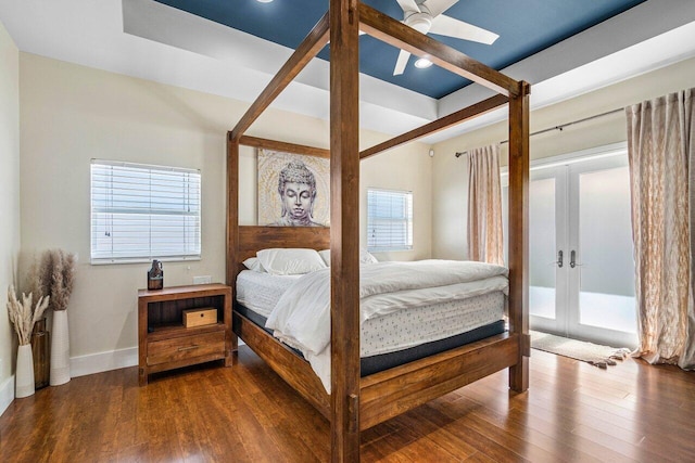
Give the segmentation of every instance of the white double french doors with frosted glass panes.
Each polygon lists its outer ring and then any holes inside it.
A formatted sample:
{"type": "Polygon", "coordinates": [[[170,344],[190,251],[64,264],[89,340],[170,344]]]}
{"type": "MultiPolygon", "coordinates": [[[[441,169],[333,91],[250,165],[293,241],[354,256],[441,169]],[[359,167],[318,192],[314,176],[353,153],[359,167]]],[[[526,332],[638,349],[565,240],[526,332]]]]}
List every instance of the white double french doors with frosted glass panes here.
{"type": "Polygon", "coordinates": [[[531,329],[635,346],[627,152],[534,166],[529,197],[531,329]]]}

